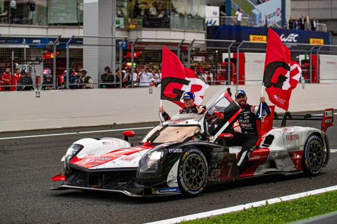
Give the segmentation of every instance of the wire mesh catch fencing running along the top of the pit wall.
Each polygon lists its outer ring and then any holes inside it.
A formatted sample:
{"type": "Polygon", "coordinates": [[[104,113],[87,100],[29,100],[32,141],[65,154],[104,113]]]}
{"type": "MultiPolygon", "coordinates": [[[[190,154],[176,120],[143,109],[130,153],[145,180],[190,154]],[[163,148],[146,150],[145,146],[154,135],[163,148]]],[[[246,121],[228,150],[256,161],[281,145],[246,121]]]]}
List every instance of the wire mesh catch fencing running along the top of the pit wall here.
{"type": "MultiPolygon", "coordinates": [[[[302,83],[337,82],[337,45],[285,45],[302,66],[302,83]]],[[[155,87],[163,46],[209,85],[262,83],[265,42],[2,35],[0,90],[155,87]]]]}

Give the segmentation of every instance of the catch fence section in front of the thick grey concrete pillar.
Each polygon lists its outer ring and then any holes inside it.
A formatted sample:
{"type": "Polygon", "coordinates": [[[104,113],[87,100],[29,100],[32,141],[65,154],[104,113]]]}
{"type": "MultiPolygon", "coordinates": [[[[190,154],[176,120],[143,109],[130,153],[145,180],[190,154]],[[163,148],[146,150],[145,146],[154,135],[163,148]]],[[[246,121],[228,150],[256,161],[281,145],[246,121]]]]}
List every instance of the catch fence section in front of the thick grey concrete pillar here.
{"type": "Polygon", "coordinates": [[[126,37],[72,36],[66,44],[66,89],[122,87],[126,37]]]}

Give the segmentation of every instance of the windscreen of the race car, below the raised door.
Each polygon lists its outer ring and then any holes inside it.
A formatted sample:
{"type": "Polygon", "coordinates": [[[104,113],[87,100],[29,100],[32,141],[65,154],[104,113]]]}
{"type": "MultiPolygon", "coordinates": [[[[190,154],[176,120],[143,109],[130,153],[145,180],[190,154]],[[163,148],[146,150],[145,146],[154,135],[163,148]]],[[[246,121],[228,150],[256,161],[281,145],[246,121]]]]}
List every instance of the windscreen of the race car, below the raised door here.
{"type": "Polygon", "coordinates": [[[146,142],[148,138],[153,135],[155,135],[155,137],[153,137],[152,143],[185,141],[199,131],[200,128],[198,126],[157,126],[143,138],[142,142],[146,142]],[[158,133],[156,134],[157,131],[158,133]]]}

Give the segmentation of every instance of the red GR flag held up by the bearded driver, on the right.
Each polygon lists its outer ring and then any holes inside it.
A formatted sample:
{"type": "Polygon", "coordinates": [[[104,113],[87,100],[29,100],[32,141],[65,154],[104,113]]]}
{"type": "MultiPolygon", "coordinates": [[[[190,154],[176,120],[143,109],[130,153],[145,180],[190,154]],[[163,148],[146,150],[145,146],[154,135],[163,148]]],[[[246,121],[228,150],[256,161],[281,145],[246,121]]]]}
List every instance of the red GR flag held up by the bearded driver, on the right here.
{"type": "Polygon", "coordinates": [[[269,28],[263,83],[269,99],[288,110],[291,90],[301,77],[301,66],[290,59],[290,50],[280,36],[269,28]]]}

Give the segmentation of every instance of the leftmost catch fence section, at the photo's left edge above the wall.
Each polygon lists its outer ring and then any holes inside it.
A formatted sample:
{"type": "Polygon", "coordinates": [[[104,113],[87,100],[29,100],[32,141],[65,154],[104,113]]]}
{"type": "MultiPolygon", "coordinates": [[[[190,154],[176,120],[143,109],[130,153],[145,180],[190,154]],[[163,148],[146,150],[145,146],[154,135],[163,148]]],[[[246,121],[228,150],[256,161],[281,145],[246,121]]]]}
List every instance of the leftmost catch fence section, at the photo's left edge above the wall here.
{"type": "Polygon", "coordinates": [[[0,35],[0,90],[54,89],[59,39],[60,36],[0,35]]]}

